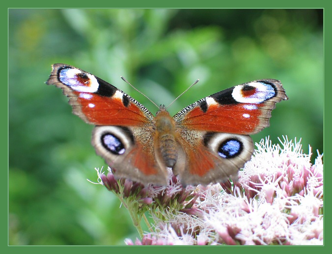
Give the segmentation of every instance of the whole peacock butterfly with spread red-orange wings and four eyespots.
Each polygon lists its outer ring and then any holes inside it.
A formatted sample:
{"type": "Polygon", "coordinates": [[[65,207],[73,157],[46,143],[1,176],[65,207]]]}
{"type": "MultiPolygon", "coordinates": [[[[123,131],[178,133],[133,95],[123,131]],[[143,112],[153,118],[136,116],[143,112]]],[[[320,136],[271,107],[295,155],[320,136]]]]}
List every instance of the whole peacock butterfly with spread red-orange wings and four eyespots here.
{"type": "Polygon", "coordinates": [[[95,125],[92,145],[114,176],[166,185],[168,170],[183,185],[237,179],[253,153],[249,134],[269,126],[275,104],[287,100],[280,81],[255,80],[204,97],[173,117],[156,116],[104,80],[53,64],[48,85],[63,89],[74,114],[95,125]]]}

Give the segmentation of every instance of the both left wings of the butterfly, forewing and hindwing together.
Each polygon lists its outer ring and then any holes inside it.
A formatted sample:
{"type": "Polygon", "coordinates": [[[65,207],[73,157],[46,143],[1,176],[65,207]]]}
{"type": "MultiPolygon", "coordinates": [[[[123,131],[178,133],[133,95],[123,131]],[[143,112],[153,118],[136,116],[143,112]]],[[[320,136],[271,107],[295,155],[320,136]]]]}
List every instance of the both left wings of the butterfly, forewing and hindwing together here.
{"type": "Polygon", "coordinates": [[[61,88],[73,112],[96,126],[92,145],[115,177],[167,184],[168,171],[154,155],[154,116],[143,105],[104,80],[66,64],[53,64],[47,84],[61,88]]]}

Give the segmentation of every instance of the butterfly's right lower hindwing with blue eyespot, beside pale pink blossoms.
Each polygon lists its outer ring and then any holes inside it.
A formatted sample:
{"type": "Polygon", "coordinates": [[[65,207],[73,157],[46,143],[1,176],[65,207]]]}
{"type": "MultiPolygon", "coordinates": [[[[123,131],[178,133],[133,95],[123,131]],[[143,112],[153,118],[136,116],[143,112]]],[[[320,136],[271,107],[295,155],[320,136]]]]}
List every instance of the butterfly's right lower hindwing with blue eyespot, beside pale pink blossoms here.
{"type": "Polygon", "coordinates": [[[178,142],[183,155],[178,158],[173,172],[179,175],[183,185],[237,180],[239,169],[253,152],[248,135],[190,130],[181,135],[178,142]],[[191,138],[184,138],[188,136],[191,138]]]}

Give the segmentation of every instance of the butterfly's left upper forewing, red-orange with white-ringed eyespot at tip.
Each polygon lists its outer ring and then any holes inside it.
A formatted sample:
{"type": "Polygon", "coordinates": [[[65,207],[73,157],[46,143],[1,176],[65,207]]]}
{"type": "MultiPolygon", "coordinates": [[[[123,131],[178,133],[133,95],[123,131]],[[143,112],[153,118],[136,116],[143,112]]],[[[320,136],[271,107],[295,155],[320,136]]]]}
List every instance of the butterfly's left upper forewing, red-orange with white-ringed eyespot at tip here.
{"type": "Polygon", "coordinates": [[[106,81],[67,64],[53,64],[48,85],[69,97],[74,114],[93,125],[142,126],[153,115],[138,101],[106,81]]]}

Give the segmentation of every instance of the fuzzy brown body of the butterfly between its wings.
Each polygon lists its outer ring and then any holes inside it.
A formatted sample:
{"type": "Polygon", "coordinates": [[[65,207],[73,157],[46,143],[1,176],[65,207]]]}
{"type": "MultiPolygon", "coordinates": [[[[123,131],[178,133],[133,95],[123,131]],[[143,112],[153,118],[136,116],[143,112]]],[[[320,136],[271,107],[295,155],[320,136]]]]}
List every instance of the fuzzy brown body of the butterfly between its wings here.
{"type": "Polygon", "coordinates": [[[167,167],[173,167],[178,158],[178,148],[175,140],[175,121],[166,111],[160,108],[154,119],[155,151],[167,167]]]}

